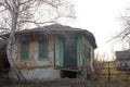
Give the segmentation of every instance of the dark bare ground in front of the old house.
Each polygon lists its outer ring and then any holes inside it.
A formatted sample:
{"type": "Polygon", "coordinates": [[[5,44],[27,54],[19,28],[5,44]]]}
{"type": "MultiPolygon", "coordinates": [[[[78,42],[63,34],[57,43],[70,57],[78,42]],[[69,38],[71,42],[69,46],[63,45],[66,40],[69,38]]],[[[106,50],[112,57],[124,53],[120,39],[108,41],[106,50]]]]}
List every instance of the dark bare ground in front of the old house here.
{"type": "Polygon", "coordinates": [[[84,87],[84,83],[76,78],[62,78],[50,82],[37,82],[20,84],[16,82],[4,82],[0,83],[0,87],[84,87]]]}

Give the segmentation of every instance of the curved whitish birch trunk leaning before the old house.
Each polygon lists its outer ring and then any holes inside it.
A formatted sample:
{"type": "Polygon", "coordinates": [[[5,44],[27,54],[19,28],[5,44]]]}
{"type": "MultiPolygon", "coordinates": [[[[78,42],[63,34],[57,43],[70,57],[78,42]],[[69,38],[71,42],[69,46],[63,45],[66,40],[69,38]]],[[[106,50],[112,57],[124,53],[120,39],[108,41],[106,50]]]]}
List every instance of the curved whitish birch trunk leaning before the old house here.
{"type": "Polygon", "coordinates": [[[11,12],[12,17],[12,25],[11,25],[11,33],[10,37],[8,39],[8,47],[6,47],[6,54],[8,54],[8,61],[11,65],[12,71],[16,74],[17,78],[21,83],[26,83],[26,78],[22,74],[22,72],[18,70],[16,64],[14,63],[14,44],[15,44],[15,30],[16,30],[16,23],[17,23],[17,14],[15,12],[11,12]]]}

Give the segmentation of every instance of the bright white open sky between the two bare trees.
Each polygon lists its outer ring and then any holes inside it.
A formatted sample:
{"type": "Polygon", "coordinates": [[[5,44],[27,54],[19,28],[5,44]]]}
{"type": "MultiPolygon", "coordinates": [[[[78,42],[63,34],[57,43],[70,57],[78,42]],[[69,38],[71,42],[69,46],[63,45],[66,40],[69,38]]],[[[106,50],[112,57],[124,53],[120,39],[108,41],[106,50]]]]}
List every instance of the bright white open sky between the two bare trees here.
{"type": "MultiPolygon", "coordinates": [[[[130,0],[76,0],[77,20],[74,26],[94,34],[99,49],[121,29],[120,14],[125,14],[130,0]]],[[[106,48],[106,47],[105,47],[106,48]]]]}

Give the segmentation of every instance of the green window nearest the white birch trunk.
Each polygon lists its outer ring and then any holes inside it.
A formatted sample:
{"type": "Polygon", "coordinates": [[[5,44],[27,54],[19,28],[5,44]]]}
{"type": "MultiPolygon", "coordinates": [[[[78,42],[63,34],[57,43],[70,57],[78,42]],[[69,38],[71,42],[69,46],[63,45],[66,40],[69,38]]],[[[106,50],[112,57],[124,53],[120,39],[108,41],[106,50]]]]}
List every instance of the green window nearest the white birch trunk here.
{"type": "Polygon", "coordinates": [[[28,60],[29,58],[29,44],[22,42],[21,44],[21,60],[28,60]]]}

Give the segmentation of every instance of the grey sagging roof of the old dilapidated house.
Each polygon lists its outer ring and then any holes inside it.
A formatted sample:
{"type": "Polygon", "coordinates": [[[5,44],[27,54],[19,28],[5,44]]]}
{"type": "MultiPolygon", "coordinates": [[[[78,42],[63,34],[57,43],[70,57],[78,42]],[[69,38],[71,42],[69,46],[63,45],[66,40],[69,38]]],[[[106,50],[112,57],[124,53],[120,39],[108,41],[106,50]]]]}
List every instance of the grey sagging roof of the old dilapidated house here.
{"type": "Polygon", "coordinates": [[[88,38],[88,40],[93,46],[93,48],[96,48],[95,38],[92,33],[88,32],[87,29],[73,28],[73,27],[64,26],[60,24],[53,24],[53,25],[48,25],[43,27],[36,27],[32,29],[25,29],[16,33],[16,37],[21,39],[27,39],[27,37],[43,38],[43,36],[52,36],[52,35],[58,35],[64,37],[84,36],[88,38]],[[26,37],[23,37],[23,36],[26,36],[26,37]]]}

